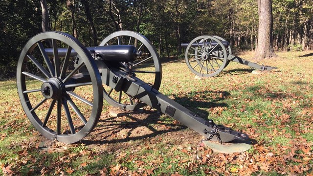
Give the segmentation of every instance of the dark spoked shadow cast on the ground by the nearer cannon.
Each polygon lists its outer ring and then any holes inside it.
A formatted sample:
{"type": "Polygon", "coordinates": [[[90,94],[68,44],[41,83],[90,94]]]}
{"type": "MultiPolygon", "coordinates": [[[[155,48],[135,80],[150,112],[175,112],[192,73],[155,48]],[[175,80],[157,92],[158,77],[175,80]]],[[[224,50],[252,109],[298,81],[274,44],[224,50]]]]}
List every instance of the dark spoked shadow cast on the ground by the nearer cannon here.
{"type": "MultiPolygon", "coordinates": [[[[197,113],[202,118],[207,119],[209,114],[206,109],[227,107],[227,104],[218,103],[218,101],[227,98],[229,95],[230,94],[226,91],[191,92],[184,97],[176,96],[174,100],[187,109],[197,113]],[[220,95],[222,93],[224,96],[223,98],[210,98],[209,101],[202,102],[192,99],[195,93],[200,95],[208,93],[220,95]]],[[[100,118],[97,127],[90,134],[91,137],[87,137],[87,139],[83,139],[81,142],[87,145],[117,144],[152,138],[168,132],[179,132],[184,129],[187,129],[185,125],[175,122],[171,117],[162,117],[162,114],[156,110],[118,110],[117,116],[100,118]],[[139,135],[134,135],[134,133],[138,133],[139,135]],[[121,138],[121,134],[123,134],[123,138],[121,138]]],[[[199,137],[201,137],[200,134],[199,137]]]]}

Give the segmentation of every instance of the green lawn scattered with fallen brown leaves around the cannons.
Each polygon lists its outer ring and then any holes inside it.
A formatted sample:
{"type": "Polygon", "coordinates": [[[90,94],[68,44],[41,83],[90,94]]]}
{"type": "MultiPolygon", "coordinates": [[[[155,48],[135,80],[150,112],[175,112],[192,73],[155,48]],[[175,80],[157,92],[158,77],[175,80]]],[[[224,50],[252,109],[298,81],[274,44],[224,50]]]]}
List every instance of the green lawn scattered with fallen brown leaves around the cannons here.
{"type": "MultiPolygon", "coordinates": [[[[278,52],[253,74],[231,62],[197,79],[182,59],[162,62],[160,92],[253,139],[243,153],[215,153],[201,135],[149,107],[104,103],[94,131],[77,144],[51,142],[22,110],[15,79],[0,80],[1,175],[313,175],[313,52],[278,52]]],[[[249,60],[252,52],[240,57],[249,60]]]]}

